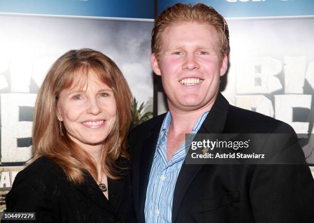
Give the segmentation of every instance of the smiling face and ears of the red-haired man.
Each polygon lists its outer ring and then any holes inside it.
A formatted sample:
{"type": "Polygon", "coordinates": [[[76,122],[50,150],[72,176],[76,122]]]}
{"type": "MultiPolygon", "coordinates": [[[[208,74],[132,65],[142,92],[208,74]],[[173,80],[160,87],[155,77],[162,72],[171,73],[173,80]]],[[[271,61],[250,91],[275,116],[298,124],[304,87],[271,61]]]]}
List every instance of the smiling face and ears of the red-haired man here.
{"type": "Polygon", "coordinates": [[[161,75],[170,109],[210,109],[227,70],[227,56],[219,57],[219,39],[214,27],[182,23],[162,34],[159,61],[152,54],[152,67],[161,75]]]}

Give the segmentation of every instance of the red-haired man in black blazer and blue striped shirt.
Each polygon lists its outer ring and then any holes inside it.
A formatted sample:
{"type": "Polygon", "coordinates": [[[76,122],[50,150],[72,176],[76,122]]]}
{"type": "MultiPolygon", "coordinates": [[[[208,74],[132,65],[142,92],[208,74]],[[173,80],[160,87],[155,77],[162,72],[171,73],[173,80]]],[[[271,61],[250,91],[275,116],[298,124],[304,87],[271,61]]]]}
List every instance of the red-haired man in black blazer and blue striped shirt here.
{"type": "MultiPolygon", "coordinates": [[[[225,19],[203,4],[176,4],[155,20],[151,63],[162,78],[169,112],[130,133],[139,222],[314,219],[314,183],[304,161],[300,165],[185,163],[185,133],[295,136],[289,125],[231,106],[219,93],[228,65],[228,35],[225,19]]],[[[304,160],[300,147],[292,152],[304,160]]]]}

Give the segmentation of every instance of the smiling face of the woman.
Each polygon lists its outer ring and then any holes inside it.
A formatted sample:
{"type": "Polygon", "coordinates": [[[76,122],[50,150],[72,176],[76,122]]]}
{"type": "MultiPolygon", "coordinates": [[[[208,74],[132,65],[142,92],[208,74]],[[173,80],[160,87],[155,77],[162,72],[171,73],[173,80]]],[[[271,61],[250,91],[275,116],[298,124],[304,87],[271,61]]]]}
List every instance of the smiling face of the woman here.
{"type": "Polygon", "coordinates": [[[67,135],[83,148],[103,145],[116,120],[112,89],[93,71],[85,87],[61,91],[57,111],[67,135]]]}

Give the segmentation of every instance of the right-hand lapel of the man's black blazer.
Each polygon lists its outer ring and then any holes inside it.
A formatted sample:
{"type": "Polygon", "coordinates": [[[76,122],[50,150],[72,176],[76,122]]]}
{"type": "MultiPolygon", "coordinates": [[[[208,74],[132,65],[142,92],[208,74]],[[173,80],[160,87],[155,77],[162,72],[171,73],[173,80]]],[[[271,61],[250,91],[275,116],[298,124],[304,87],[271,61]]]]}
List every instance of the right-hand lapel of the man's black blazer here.
{"type": "MultiPolygon", "coordinates": [[[[228,101],[221,95],[221,93],[218,93],[218,96],[198,133],[222,132],[225,126],[228,108],[228,101]]],[[[176,180],[176,184],[174,187],[172,201],[172,222],[175,222],[175,219],[178,216],[186,190],[188,189],[194,177],[200,171],[202,166],[203,165],[193,164],[186,165],[185,162],[183,163],[178,176],[178,180],[176,180]]]]}

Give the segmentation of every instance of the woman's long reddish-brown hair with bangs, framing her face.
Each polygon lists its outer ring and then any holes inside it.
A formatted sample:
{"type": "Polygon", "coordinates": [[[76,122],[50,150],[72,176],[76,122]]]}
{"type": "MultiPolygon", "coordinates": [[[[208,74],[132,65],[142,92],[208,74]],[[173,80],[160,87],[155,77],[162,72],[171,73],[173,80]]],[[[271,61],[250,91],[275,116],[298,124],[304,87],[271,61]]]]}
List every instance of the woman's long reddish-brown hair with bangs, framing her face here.
{"type": "Polygon", "coordinates": [[[116,165],[120,156],[128,157],[125,138],[131,121],[131,92],[116,64],[101,52],[81,49],[71,50],[51,66],[37,95],[33,118],[34,159],[46,156],[58,164],[74,183],[82,183],[84,171],[98,179],[96,164],[91,155],[74,143],[57,119],[57,102],[60,92],[76,84],[85,84],[89,71],[112,88],[117,118],[106,138],[101,154],[102,170],[112,179],[119,179],[123,171],[116,165]]]}

